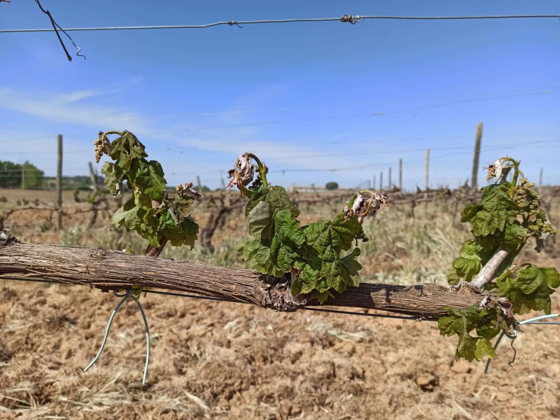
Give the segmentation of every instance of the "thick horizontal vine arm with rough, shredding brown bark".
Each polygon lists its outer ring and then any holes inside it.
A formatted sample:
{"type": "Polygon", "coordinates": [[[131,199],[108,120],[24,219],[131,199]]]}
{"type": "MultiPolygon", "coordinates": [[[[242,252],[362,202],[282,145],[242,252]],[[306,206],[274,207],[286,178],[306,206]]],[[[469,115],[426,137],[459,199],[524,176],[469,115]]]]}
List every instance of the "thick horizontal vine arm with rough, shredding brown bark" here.
{"type": "MultiPolygon", "coordinates": [[[[0,232],[0,279],[44,278],[102,291],[153,287],[220,297],[285,312],[319,306],[318,301],[309,300],[306,295],[292,296],[288,276],[278,279],[253,270],[102,248],[28,244],[18,241],[7,231],[0,232]]],[[[472,306],[483,297],[469,286],[446,288],[435,283],[415,286],[362,283],[344,293],[335,293],[325,306],[384,310],[436,319],[448,313],[446,307],[472,306]]]]}

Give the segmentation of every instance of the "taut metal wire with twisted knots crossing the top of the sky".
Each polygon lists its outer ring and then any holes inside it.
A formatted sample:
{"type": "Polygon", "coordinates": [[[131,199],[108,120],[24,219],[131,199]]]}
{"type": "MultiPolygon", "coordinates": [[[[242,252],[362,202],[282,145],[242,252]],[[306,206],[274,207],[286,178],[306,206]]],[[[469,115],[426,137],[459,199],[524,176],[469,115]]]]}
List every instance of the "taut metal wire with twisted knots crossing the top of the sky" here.
{"type": "MultiPolygon", "coordinates": [[[[346,15],[345,15],[346,16],[346,15]]],[[[352,18],[352,16],[349,16],[352,18]]],[[[360,20],[476,20],[476,19],[521,19],[521,18],[560,18],[560,15],[495,15],[495,16],[354,16],[353,22],[360,20]]],[[[326,18],[296,18],[296,19],[274,19],[274,20],[248,20],[248,21],[221,21],[204,25],[157,25],[157,26],[108,26],[108,27],[77,27],[64,29],[65,31],[120,31],[120,30],[146,30],[146,29],[204,29],[208,27],[229,25],[259,25],[259,24],[288,24],[296,22],[334,22],[343,20],[340,17],[326,18]]],[[[3,29],[6,32],[54,32],[54,29],[3,29]]]]}

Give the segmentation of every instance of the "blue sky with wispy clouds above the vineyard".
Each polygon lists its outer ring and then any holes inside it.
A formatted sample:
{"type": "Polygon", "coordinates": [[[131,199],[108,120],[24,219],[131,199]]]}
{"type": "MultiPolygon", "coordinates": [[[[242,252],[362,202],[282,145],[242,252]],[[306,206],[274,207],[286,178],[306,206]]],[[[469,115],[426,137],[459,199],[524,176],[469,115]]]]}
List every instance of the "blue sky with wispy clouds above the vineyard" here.
{"type": "MultiPolygon", "coordinates": [[[[63,28],[558,13],[553,0],[41,4],[63,28]]],[[[0,3],[0,29],[48,27],[34,1],[0,3]]],[[[381,171],[386,183],[389,167],[395,182],[402,158],[404,186],[415,188],[430,148],[431,186],[454,187],[470,178],[483,122],[479,179],[482,166],[510,155],[530,178],[543,167],[544,183],[560,184],[557,19],[69,34],[87,60],[68,62],[54,32],[0,34],[0,160],[29,160],[54,175],[62,133],[64,174],[86,174],[97,132],[128,129],[171,185],[199,175],[217,188],[237,155],[251,151],[267,162],[273,184],[356,186],[379,181],[381,171]],[[352,169],[332,171],[339,168],[352,169]]]]}

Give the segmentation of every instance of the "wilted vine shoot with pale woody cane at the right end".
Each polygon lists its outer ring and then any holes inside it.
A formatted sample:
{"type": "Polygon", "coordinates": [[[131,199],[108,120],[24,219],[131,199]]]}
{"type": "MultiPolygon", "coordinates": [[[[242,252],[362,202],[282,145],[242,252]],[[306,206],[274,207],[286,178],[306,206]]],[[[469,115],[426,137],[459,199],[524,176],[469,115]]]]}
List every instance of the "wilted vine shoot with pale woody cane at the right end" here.
{"type": "Polygon", "coordinates": [[[459,335],[456,359],[480,361],[485,355],[496,356],[490,340],[501,330],[521,330],[515,314],[532,310],[550,314],[550,295],[560,286],[554,267],[514,264],[531,238],[540,251],[548,237],[557,234],[541,207],[535,184],[525,178],[519,163],[502,157],[485,168],[487,179],[495,178],[496,183],[482,188],[480,203],[461,212],[461,222],[472,225],[473,239],[461,246],[459,258],[447,270],[447,280],[452,286],[469,282],[488,294],[478,305],[449,309],[450,315],[438,321],[442,335],[459,335]],[[512,181],[508,182],[512,170],[512,181]],[[476,336],[469,334],[473,330],[476,336]]]}

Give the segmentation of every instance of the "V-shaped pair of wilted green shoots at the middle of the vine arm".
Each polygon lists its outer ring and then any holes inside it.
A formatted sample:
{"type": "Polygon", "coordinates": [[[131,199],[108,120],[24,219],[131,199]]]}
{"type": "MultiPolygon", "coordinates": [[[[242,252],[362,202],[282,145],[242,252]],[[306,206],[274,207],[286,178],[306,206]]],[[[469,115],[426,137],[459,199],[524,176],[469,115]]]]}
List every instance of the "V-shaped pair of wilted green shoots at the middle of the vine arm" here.
{"type": "Polygon", "coordinates": [[[300,211],[293,206],[286,190],[268,185],[268,168],[252,153],[237,158],[226,188],[237,186],[249,198],[245,218],[249,237],[237,242],[237,250],[254,270],[274,277],[291,276],[292,295],[310,293],[325,302],[332,291],[342,293],[348,286],[360,285],[362,268],[356,257],[360,248],[354,241],[367,241],[363,218],[382,210],[389,200],[370,190],[358,190],[334,220],[319,220],[300,226],[300,211]],[[256,164],[251,164],[254,160],[256,164]],[[257,173],[253,181],[254,173],[257,173]],[[247,186],[249,185],[249,186],[247,186]],[[342,251],[349,251],[341,256],[342,251]]]}

